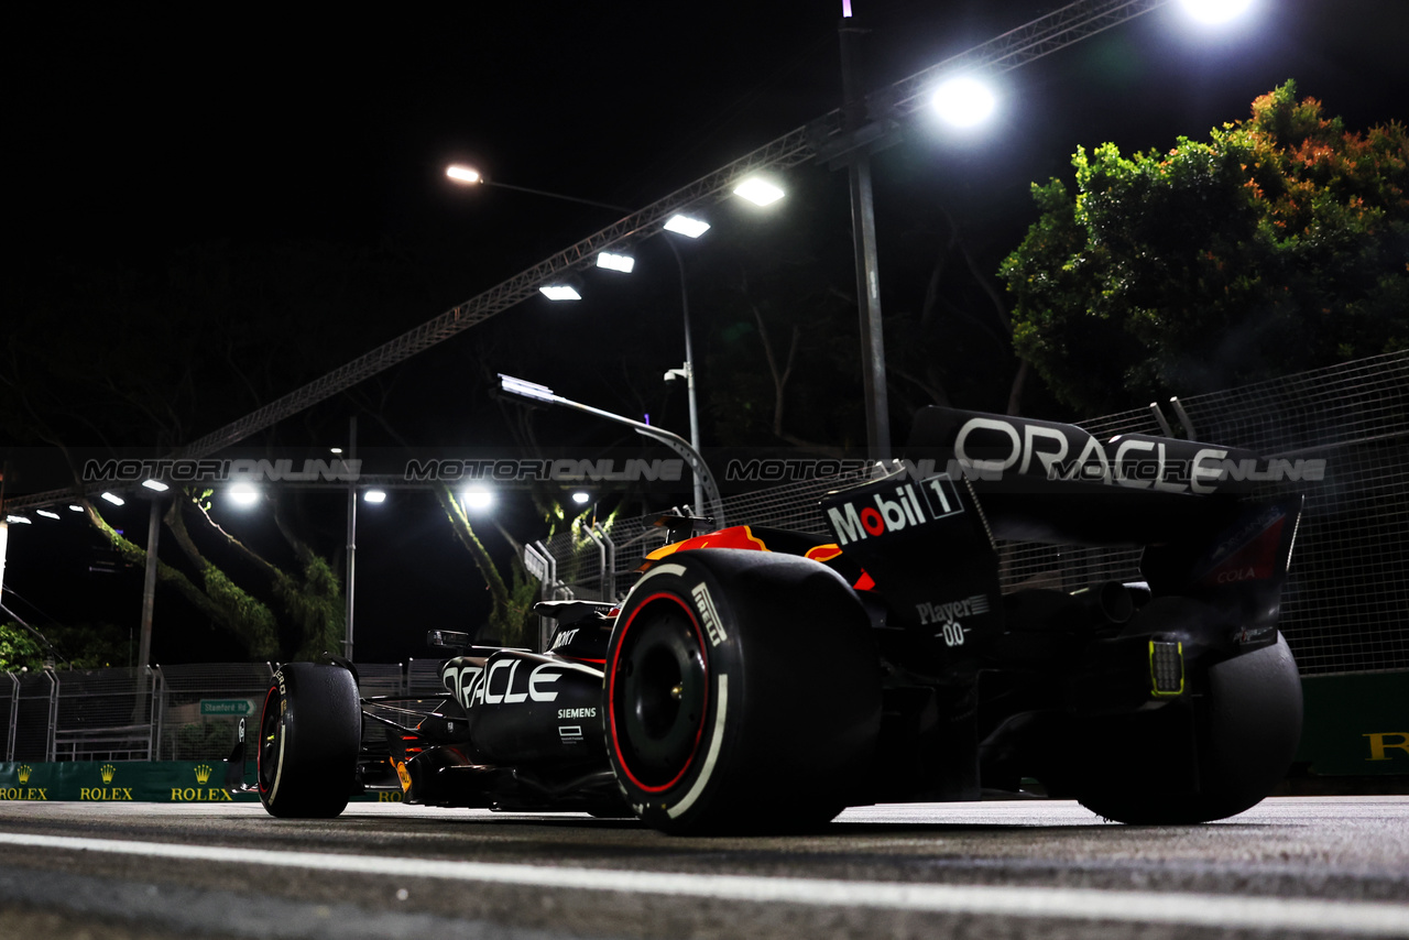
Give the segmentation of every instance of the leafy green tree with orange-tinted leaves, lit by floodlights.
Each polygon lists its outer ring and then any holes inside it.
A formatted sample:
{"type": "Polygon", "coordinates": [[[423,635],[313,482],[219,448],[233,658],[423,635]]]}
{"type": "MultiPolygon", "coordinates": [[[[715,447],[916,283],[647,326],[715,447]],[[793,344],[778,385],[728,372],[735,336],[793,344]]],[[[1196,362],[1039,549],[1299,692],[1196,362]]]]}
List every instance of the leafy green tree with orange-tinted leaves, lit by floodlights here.
{"type": "Polygon", "coordinates": [[[1000,276],[1013,340],[1088,413],[1409,345],[1409,137],[1292,82],[1168,152],[1078,148],[1000,276]]]}

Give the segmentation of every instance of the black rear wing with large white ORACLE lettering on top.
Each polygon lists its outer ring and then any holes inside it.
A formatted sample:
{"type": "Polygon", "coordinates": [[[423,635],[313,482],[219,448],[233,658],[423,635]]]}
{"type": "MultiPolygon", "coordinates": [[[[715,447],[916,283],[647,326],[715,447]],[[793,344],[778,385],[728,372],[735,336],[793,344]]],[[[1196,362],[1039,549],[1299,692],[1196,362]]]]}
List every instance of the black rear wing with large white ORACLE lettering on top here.
{"type": "Polygon", "coordinates": [[[1320,469],[1219,444],[1100,441],[1074,424],[944,407],[916,413],[905,458],[964,481],[995,538],[1143,545],[1155,593],[1203,598],[1255,623],[1275,623],[1303,502],[1286,488],[1271,496],[1258,488],[1320,469]]]}

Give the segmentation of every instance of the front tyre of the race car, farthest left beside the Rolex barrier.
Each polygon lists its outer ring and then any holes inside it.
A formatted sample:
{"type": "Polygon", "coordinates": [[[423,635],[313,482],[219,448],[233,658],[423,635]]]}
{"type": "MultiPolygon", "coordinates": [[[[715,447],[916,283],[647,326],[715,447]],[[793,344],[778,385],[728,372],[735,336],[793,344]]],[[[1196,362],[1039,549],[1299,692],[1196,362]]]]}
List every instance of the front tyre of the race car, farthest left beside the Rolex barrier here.
{"type": "Polygon", "coordinates": [[[362,747],[356,679],[337,665],[286,662],[259,716],[259,802],[273,816],[328,819],[347,808],[362,747]]]}

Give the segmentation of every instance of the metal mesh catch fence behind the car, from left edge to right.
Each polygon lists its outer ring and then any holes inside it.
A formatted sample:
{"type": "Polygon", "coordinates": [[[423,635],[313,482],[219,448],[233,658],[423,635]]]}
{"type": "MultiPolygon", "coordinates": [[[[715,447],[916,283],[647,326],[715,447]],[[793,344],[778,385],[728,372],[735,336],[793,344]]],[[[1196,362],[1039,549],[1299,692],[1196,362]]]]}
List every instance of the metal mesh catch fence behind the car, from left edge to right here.
{"type": "MultiPolygon", "coordinates": [[[[1324,459],[1306,495],[1281,626],[1302,675],[1409,669],[1409,354],[1391,354],[1165,407],[1085,421],[1096,437],[1144,433],[1324,459]]],[[[724,499],[730,524],[826,534],[819,500],[859,482],[833,476],[724,499]]],[[[575,528],[524,550],[545,599],[616,600],[665,541],[657,516],[575,528]]],[[[1138,548],[1003,543],[1005,592],[1075,590],[1140,575],[1138,548]]],[[[542,638],[541,638],[542,640],[542,638]]],[[[541,647],[540,647],[541,648],[541,647]]],[[[364,695],[433,695],[437,660],[358,664],[364,695]]],[[[269,664],[0,674],[4,761],[210,761],[238,720],[258,720],[269,664]]]]}

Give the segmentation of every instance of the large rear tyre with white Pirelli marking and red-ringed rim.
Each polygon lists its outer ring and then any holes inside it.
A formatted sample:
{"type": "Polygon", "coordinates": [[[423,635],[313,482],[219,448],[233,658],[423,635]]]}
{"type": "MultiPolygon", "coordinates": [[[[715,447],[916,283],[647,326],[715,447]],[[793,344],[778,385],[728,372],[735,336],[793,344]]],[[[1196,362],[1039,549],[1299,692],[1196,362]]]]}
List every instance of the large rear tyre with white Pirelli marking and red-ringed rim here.
{"type": "Polygon", "coordinates": [[[828,568],[682,551],[626,599],[607,648],[607,754],[637,816],[668,833],[795,831],[868,802],[881,667],[828,568]]]}

